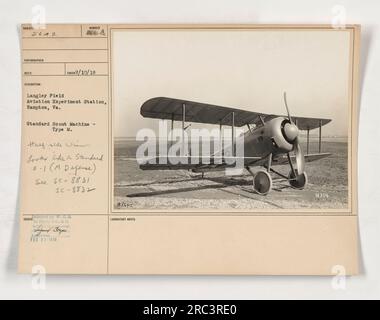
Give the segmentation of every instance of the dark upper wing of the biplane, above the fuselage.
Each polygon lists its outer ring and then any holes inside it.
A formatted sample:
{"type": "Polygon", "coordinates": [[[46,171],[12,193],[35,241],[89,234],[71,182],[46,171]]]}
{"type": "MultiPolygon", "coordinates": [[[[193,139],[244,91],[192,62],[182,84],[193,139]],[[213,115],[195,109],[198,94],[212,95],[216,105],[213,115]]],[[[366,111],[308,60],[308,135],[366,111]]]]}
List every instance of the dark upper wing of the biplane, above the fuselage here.
{"type": "MultiPolygon", "coordinates": [[[[182,121],[183,105],[186,106],[185,121],[208,124],[232,125],[231,114],[234,113],[234,124],[242,127],[246,124],[254,124],[261,121],[269,121],[281,117],[275,114],[246,111],[236,108],[221,107],[207,103],[180,100],[174,98],[157,97],[143,103],[140,113],[145,118],[168,119],[182,121]]],[[[329,123],[330,119],[292,117],[300,130],[312,130],[329,123]]]]}

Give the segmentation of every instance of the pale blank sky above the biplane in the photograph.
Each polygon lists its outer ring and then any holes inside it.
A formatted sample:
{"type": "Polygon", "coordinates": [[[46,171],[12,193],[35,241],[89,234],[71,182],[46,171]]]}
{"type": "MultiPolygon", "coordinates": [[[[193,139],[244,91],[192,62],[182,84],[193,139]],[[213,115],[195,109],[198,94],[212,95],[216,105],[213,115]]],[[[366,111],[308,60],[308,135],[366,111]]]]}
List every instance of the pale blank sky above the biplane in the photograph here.
{"type": "Polygon", "coordinates": [[[292,115],[348,135],[349,31],[121,30],[112,41],[115,137],[158,130],[140,115],[153,97],[283,115],[284,91],[292,115]]]}

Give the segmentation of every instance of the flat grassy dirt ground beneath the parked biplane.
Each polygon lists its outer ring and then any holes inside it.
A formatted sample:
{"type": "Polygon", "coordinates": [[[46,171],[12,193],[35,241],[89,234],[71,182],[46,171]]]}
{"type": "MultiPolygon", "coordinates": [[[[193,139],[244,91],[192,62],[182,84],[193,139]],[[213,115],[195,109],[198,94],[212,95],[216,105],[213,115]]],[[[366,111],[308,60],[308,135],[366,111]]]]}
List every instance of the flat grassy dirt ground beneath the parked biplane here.
{"type": "MultiPolygon", "coordinates": [[[[318,149],[311,142],[310,153],[318,149]]],[[[325,141],[328,158],[306,164],[308,184],[292,189],[287,181],[273,177],[272,191],[258,195],[252,176],[225,176],[224,171],[200,174],[186,170],[143,171],[134,158],[136,142],[115,143],[115,209],[340,209],[347,208],[347,143],[325,141]]],[[[306,150],[306,147],[303,147],[306,150]]],[[[278,166],[288,174],[288,166],[278,166]]]]}

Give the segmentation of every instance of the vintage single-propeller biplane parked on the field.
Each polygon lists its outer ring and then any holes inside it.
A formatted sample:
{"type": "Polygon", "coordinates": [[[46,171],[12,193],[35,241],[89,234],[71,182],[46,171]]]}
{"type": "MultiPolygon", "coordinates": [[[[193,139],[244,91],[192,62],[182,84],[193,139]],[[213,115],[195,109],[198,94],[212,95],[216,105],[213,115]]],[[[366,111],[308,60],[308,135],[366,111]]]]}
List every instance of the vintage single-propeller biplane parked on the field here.
{"type": "MultiPolygon", "coordinates": [[[[206,103],[186,101],[174,98],[156,97],[147,100],[141,106],[140,113],[146,118],[171,120],[173,130],[174,122],[182,122],[182,131],[187,127],[185,123],[203,123],[219,125],[220,132],[223,126],[231,127],[232,144],[239,139],[243,139],[244,168],[253,176],[253,189],[260,195],[266,195],[272,188],[272,175],[277,175],[281,179],[288,181],[295,189],[303,189],[307,184],[305,163],[325,158],[330,153],[322,153],[322,126],[331,119],[294,117],[290,115],[289,107],[284,93],[284,104],[287,116],[265,114],[241,109],[216,106],[206,103]],[[240,136],[235,137],[235,127],[246,126],[247,130],[240,136]],[[309,153],[309,133],[318,129],[318,153],[309,153]],[[300,131],[307,132],[306,154],[303,153],[299,135],[300,131]],[[288,176],[275,170],[275,165],[289,165],[288,176]],[[260,167],[257,172],[253,167],[260,167]]],[[[209,161],[200,159],[196,164],[192,161],[181,161],[177,164],[170,162],[162,163],[157,157],[154,161],[140,164],[142,170],[191,170],[200,172],[202,176],[205,172],[223,170],[228,164],[224,158],[222,150],[218,155],[211,156],[209,161]],[[216,161],[218,159],[219,161],[216,161]],[[220,161],[221,160],[221,161],[220,161]]],[[[188,155],[183,155],[188,157],[188,155]]],[[[236,150],[232,146],[232,157],[236,157],[236,150]]]]}

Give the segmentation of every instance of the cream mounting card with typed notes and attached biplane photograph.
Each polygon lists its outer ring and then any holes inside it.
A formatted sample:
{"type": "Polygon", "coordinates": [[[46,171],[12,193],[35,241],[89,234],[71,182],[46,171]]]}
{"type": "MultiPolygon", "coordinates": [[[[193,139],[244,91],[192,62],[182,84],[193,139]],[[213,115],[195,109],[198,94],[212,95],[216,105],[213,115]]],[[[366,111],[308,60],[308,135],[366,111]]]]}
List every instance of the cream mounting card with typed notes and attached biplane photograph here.
{"type": "Polygon", "coordinates": [[[359,273],[360,26],[21,37],[20,272],[359,273]]]}

